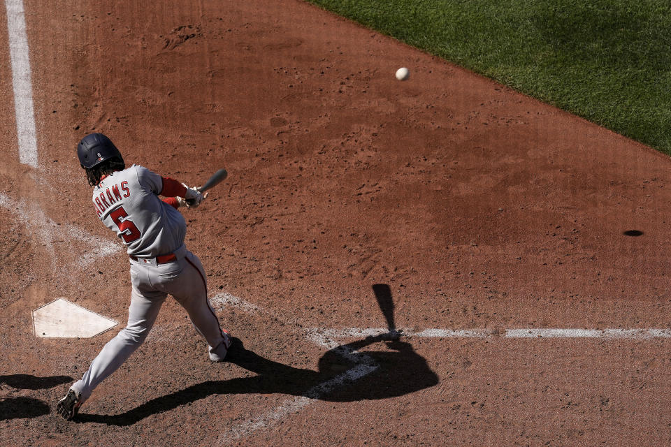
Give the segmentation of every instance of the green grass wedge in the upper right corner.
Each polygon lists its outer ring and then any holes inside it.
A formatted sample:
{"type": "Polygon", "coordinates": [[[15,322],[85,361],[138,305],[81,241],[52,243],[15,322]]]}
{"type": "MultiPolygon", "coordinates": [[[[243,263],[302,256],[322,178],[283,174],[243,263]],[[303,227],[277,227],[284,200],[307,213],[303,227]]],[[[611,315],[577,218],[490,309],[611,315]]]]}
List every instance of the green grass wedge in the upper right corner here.
{"type": "Polygon", "coordinates": [[[309,0],[671,154],[668,0],[309,0]]]}

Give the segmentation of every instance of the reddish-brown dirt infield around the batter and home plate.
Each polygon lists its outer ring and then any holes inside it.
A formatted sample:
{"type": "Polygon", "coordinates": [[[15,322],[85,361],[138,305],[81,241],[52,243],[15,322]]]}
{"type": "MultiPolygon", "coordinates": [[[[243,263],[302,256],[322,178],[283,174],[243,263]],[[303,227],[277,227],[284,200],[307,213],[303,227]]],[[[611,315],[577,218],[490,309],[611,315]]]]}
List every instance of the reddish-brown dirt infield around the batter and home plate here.
{"type": "Polygon", "coordinates": [[[98,3],[24,2],[36,169],[0,8],[1,445],[671,444],[668,337],[505,336],[670,328],[667,156],[301,1],[98,3]],[[75,157],[92,131],[189,184],[229,170],[184,214],[238,340],[210,363],[168,300],[68,423],[118,328],[36,339],[31,310],[125,323],[130,296],[75,157]],[[414,336],[376,336],[390,301],[414,336]]]}

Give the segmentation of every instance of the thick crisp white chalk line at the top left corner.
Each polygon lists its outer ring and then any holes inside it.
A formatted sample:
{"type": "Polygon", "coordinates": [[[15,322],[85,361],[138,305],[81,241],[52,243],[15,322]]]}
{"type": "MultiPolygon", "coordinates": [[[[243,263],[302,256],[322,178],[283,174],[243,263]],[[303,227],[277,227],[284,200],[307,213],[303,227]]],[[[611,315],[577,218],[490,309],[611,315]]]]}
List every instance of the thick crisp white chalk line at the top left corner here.
{"type": "Polygon", "coordinates": [[[5,0],[5,6],[19,160],[23,164],[37,168],[37,133],[35,130],[33,86],[30,75],[30,55],[23,1],[5,0]]]}

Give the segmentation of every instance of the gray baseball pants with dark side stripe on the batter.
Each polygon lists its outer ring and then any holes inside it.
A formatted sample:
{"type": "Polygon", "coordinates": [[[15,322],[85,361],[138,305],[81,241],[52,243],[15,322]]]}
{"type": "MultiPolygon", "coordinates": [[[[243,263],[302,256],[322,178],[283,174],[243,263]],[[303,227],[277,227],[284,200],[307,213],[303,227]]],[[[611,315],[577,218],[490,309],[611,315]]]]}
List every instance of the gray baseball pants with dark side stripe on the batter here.
{"type": "Polygon", "coordinates": [[[186,309],[194,327],[208,342],[210,359],[224,360],[230,339],[224,335],[208,301],[203,265],[183,246],[175,254],[177,261],[165,264],[131,261],[133,291],[128,325],[103,347],[82,379],[71,386],[80,393],[82,401],[143,344],[168,294],[186,309]]]}

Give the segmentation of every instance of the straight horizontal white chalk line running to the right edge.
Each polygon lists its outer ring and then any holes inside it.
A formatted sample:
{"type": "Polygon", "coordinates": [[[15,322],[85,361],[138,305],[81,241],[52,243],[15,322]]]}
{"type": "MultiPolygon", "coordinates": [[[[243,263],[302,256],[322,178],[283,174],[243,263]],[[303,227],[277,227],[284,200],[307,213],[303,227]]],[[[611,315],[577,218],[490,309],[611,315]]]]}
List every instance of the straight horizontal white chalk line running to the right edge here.
{"type": "MultiPolygon", "coordinates": [[[[379,337],[389,334],[387,328],[344,328],[344,329],[305,329],[308,338],[312,341],[320,339],[347,339],[379,337]]],[[[487,329],[424,329],[419,332],[412,329],[398,329],[401,337],[419,338],[507,338],[507,339],[632,339],[648,340],[656,338],[671,338],[671,329],[576,329],[576,328],[519,328],[505,330],[487,329]]]]}

